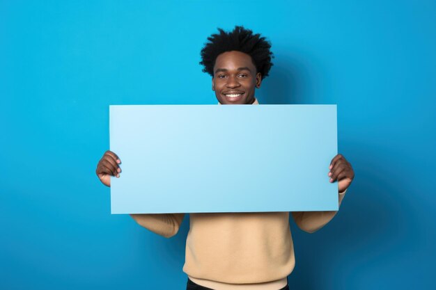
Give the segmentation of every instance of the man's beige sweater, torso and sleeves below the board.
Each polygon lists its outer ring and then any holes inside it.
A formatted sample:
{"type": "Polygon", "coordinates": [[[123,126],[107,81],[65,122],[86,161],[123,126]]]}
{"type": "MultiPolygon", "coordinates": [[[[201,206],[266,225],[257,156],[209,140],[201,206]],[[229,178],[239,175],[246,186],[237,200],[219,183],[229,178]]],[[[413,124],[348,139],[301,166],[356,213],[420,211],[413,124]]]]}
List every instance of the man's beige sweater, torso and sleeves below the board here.
{"type": "MultiPolygon", "coordinates": [[[[344,195],[339,193],[339,205],[344,195]]],[[[295,223],[306,232],[320,229],[335,214],[292,212],[295,223]]],[[[177,234],[185,214],[131,216],[169,238],[177,234]]],[[[197,284],[212,289],[277,290],[286,285],[294,266],[289,212],[190,214],[183,271],[197,284]]]]}

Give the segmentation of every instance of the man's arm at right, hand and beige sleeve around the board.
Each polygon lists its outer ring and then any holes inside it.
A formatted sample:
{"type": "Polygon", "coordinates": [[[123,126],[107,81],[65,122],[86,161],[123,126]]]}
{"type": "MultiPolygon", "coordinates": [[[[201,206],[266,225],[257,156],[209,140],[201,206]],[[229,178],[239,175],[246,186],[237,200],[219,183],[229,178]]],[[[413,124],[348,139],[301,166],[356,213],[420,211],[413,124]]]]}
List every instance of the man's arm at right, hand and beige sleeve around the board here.
{"type": "MultiPolygon", "coordinates": [[[[339,207],[341,207],[341,202],[348,186],[350,186],[352,179],[355,177],[355,172],[351,164],[342,154],[334,156],[330,163],[329,170],[329,182],[338,181],[338,202],[339,207]]],[[[337,212],[338,211],[295,211],[292,213],[292,216],[300,229],[304,230],[304,232],[313,233],[327,225],[337,212]]]]}

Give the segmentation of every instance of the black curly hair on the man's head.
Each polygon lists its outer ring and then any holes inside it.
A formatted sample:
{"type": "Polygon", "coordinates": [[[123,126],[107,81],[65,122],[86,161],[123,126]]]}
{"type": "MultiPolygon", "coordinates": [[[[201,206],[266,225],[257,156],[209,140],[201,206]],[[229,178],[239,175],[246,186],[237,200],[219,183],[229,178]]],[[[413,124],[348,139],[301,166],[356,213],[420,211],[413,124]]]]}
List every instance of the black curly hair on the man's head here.
{"type": "Polygon", "coordinates": [[[208,37],[208,42],[201,49],[200,64],[204,67],[203,72],[213,77],[213,67],[219,54],[226,51],[241,51],[251,56],[257,72],[265,79],[272,67],[271,59],[274,58],[270,51],[270,42],[260,34],[253,34],[253,31],[244,29],[243,26],[235,26],[235,29],[228,33],[223,29],[218,31],[219,34],[208,37]]]}

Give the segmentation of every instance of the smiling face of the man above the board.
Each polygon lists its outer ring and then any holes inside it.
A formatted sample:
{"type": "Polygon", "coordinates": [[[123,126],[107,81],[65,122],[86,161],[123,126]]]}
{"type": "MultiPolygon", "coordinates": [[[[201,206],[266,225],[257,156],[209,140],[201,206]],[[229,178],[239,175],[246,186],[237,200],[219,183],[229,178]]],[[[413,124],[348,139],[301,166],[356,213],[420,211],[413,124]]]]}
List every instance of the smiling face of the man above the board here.
{"type": "Polygon", "coordinates": [[[256,72],[251,56],[240,51],[226,51],[215,60],[212,90],[221,104],[253,104],[254,90],[262,77],[256,72]]]}

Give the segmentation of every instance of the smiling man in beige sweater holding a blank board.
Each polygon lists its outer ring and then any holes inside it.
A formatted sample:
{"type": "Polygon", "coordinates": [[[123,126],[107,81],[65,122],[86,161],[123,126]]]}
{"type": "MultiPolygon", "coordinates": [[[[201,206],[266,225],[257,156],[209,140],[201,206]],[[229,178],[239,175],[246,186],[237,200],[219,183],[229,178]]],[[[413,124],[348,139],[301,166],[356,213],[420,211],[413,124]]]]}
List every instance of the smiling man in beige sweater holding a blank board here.
{"type": "MultiPolygon", "coordinates": [[[[211,35],[201,50],[203,72],[212,76],[219,104],[258,104],[256,88],[272,67],[271,45],[252,31],[236,26],[211,35]]],[[[251,144],[242,144],[251,150],[251,144]]],[[[110,186],[120,177],[120,159],[106,152],[97,175],[110,186]]],[[[338,202],[354,178],[352,167],[338,154],[329,168],[329,182],[338,181],[338,202]]],[[[256,177],[253,177],[256,178],[256,177]]],[[[225,181],[224,181],[225,182],[225,181]]],[[[326,180],[327,182],[327,180],[326,180]]],[[[336,211],[293,212],[297,225],[315,232],[336,211]]],[[[139,225],[162,236],[178,232],[185,214],[132,214],[139,225]]],[[[295,266],[288,212],[190,214],[186,260],[187,289],[288,289],[287,277],[295,266]]]]}

